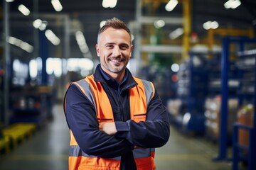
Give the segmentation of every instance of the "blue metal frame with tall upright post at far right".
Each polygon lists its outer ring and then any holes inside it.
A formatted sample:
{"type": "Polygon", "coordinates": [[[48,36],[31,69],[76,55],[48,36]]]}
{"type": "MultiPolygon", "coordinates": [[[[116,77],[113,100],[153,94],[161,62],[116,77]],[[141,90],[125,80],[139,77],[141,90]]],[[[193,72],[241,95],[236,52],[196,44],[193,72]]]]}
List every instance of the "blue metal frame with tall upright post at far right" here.
{"type": "MultiPolygon", "coordinates": [[[[227,159],[227,143],[228,137],[226,135],[227,132],[227,123],[228,123],[228,69],[229,69],[229,47],[230,42],[235,42],[239,44],[240,51],[244,51],[244,45],[246,43],[255,43],[255,39],[249,38],[223,38],[223,51],[221,57],[221,96],[222,102],[220,106],[220,137],[219,137],[219,152],[218,157],[215,160],[225,160],[227,159]]],[[[255,75],[256,75],[256,66],[255,66],[255,75]]],[[[246,125],[240,125],[235,123],[233,126],[233,170],[238,169],[238,162],[240,161],[239,157],[239,149],[247,149],[248,151],[248,169],[255,170],[256,169],[256,83],[254,84],[254,117],[253,117],[253,128],[250,128],[246,125]],[[250,132],[250,142],[249,147],[244,147],[238,144],[238,129],[248,130],[250,132]]]]}

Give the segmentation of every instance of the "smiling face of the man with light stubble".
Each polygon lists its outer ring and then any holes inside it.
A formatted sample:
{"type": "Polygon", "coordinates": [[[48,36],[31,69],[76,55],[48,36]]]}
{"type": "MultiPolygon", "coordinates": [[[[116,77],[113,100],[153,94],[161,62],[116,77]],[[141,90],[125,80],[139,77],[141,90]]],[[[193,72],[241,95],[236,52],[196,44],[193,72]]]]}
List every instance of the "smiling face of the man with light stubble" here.
{"type": "Polygon", "coordinates": [[[107,28],[96,45],[102,69],[112,77],[122,74],[132,56],[132,48],[131,39],[125,30],[107,28]]]}

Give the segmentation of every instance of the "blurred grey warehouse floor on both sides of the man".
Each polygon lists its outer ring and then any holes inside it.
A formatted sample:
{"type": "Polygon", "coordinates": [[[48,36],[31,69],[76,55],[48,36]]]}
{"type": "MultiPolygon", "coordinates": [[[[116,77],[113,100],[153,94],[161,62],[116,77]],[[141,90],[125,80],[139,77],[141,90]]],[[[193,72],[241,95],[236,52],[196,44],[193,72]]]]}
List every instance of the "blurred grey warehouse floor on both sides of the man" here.
{"type": "MultiPolygon", "coordinates": [[[[38,130],[28,140],[1,154],[1,170],[64,170],[68,169],[69,130],[63,106],[53,108],[54,120],[38,130]]],[[[230,162],[213,162],[218,145],[203,137],[188,137],[171,128],[169,142],[156,149],[156,169],[232,169],[230,162]]]]}

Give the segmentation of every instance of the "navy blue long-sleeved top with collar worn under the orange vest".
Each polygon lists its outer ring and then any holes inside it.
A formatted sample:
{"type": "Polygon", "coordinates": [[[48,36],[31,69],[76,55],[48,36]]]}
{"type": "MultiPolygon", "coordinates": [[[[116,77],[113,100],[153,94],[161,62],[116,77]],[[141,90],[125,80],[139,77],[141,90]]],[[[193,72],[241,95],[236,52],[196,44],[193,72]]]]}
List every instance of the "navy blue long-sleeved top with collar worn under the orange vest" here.
{"type": "Polygon", "coordinates": [[[146,121],[136,123],[130,120],[129,89],[137,86],[132,74],[126,69],[121,84],[111,79],[100,68],[95,70],[95,81],[100,81],[110,99],[114,122],[117,128],[115,135],[107,135],[99,130],[95,107],[89,99],[72,84],[65,101],[65,115],[68,126],[83,152],[97,157],[122,156],[122,169],[133,169],[134,146],[154,148],[161,147],[169,140],[169,119],[157,91],[146,112],[146,121]]]}

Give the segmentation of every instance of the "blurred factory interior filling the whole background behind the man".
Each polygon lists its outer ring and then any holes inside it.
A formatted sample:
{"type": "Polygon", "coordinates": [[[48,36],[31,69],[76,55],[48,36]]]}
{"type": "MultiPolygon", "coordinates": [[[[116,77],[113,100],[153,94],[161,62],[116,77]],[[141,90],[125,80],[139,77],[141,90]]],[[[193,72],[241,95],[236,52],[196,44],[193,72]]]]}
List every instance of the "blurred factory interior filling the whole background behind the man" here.
{"type": "Polygon", "coordinates": [[[1,1],[0,169],[68,169],[65,91],[94,73],[113,17],[169,114],[156,169],[256,170],[255,0],[1,1]]]}

